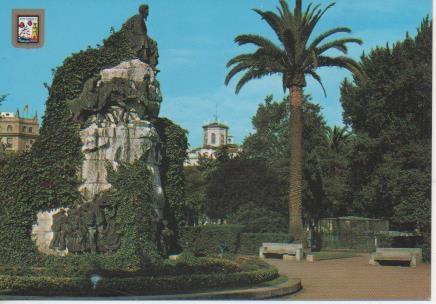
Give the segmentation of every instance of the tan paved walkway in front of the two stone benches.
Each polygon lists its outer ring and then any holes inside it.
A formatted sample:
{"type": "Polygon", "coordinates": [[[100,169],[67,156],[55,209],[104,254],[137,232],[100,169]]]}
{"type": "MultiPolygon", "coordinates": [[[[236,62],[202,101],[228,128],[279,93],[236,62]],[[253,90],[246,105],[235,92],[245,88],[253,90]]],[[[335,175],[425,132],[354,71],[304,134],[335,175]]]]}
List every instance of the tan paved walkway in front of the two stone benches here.
{"type": "Polygon", "coordinates": [[[289,278],[301,279],[303,289],[281,299],[291,300],[428,300],[431,265],[416,268],[371,266],[369,255],[325,260],[282,261],[267,259],[289,278]]]}

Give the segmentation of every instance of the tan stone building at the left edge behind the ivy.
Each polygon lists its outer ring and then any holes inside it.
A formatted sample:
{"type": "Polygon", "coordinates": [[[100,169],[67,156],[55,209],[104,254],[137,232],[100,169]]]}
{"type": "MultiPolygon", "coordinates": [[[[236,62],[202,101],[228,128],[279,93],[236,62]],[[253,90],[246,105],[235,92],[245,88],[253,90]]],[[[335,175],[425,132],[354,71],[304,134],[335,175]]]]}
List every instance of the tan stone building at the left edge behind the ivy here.
{"type": "Polygon", "coordinates": [[[19,112],[0,112],[0,141],[6,152],[29,151],[39,135],[38,116],[20,117],[19,112]]]}

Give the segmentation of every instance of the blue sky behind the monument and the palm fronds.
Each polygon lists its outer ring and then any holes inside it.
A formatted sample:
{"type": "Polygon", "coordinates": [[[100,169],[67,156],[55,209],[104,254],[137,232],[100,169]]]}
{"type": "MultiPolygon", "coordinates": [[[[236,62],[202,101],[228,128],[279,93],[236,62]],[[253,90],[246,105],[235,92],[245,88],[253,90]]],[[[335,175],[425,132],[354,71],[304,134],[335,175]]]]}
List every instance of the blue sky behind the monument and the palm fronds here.
{"type": "MultiPolygon", "coordinates": [[[[0,111],[15,111],[29,104],[30,112],[45,110],[51,69],[64,58],[88,45],[95,46],[136,14],[137,0],[3,0],[0,2],[0,93],[8,93],[0,111]],[[16,49],[11,45],[11,10],[45,9],[45,45],[40,49],[16,49]]],[[[269,27],[252,8],[275,10],[277,0],[150,0],[147,22],[149,35],[159,45],[161,72],[158,79],[164,101],[161,116],[189,131],[191,146],[201,145],[202,124],[213,119],[218,109],[220,121],[230,125],[237,143],[252,132],[251,118],[267,94],[283,98],[281,81],[269,77],[248,84],[239,95],[235,82],[224,86],[226,62],[247,51],[233,43],[241,33],[259,33],[273,38],[269,27]]],[[[331,1],[314,3],[327,5],[331,1]]],[[[294,3],[294,0],[291,0],[294,3]]],[[[309,1],[303,1],[307,5],[309,1]]],[[[415,35],[425,15],[432,15],[431,0],[337,0],[319,23],[324,31],[336,26],[353,29],[352,36],[363,39],[349,55],[358,59],[362,51],[415,35]]],[[[319,32],[318,32],[319,33],[319,32]]],[[[339,84],[350,74],[339,69],[321,70],[327,98],[321,88],[308,82],[306,93],[323,108],[329,125],[342,123],[339,84]]]]}

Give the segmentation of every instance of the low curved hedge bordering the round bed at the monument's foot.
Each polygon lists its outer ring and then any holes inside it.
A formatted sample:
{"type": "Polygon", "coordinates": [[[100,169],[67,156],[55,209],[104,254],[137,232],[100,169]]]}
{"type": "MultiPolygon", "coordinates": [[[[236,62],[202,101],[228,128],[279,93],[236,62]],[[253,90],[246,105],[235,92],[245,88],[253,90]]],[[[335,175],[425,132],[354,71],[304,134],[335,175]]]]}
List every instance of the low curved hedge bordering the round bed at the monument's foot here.
{"type": "MultiPolygon", "coordinates": [[[[208,268],[207,274],[189,273],[178,268],[182,275],[133,275],[127,273],[102,273],[103,279],[93,289],[88,276],[54,277],[29,275],[0,275],[0,294],[14,295],[71,295],[71,296],[117,296],[147,295],[159,293],[183,293],[215,287],[251,286],[276,279],[279,274],[272,267],[257,259],[242,259],[235,262],[222,259],[198,259],[198,265],[208,268]],[[218,268],[211,268],[218,267],[218,268]],[[219,271],[221,268],[221,271],[219,271]],[[244,269],[245,271],[240,271],[244,269]],[[105,277],[106,275],[106,277],[105,277]]],[[[179,264],[179,263],[178,263],[179,264]]],[[[197,265],[197,266],[198,266],[197,265]]],[[[201,268],[201,267],[200,267],[201,268]]],[[[192,270],[192,269],[191,269],[192,270]]]]}

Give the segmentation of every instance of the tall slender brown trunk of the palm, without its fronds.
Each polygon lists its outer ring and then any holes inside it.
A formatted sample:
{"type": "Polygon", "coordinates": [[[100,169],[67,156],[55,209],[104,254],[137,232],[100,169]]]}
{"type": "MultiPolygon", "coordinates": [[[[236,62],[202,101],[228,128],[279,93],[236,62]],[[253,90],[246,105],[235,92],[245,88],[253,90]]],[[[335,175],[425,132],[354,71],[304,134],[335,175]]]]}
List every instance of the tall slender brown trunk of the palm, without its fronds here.
{"type": "Polygon", "coordinates": [[[290,132],[291,164],[289,189],[289,233],[296,241],[304,242],[302,221],[302,103],[303,89],[299,86],[290,88],[289,102],[291,104],[290,132]]]}

